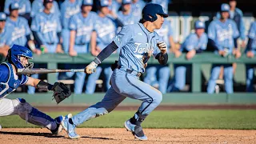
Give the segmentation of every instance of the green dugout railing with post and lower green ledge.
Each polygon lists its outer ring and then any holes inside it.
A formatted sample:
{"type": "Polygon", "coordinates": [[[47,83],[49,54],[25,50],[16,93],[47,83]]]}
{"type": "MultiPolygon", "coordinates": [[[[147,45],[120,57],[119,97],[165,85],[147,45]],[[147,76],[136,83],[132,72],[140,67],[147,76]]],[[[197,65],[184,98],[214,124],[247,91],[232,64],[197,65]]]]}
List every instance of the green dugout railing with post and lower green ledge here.
{"type": "MultiPolygon", "coordinates": [[[[192,82],[191,82],[191,93],[168,93],[164,94],[162,105],[170,104],[223,104],[223,105],[241,105],[241,104],[256,104],[256,93],[234,93],[234,94],[206,94],[202,92],[202,65],[212,64],[212,63],[233,63],[238,64],[256,64],[256,58],[246,58],[245,54],[242,54],[241,58],[234,58],[233,56],[227,56],[222,58],[217,54],[213,53],[202,53],[196,54],[194,58],[189,61],[186,60],[186,54],[182,54],[180,58],[174,58],[173,54],[169,54],[169,64],[191,64],[192,65],[192,82]]],[[[34,55],[32,62],[34,63],[46,63],[46,67],[49,69],[58,68],[58,64],[88,64],[94,59],[91,54],[78,54],[76,57],[70,57],[68,54],[42,54],[40,56],[34,55]]],[[[118,59],[118,55],[112,54],[109,58],[102,63],[112,64],[118,59]]],[[[154,58],[150,58],[149,64],[157,64],[158,62],[154,58]]],[[[241,75],[239,77],[245,77],[246,75],[241,75]]],[[[47,74],[47,80],[50,83],[57,81],[56,74],[47,74]]],[[[8,95],[8,98],[26,98],[28,102],[36,106],[48,106],[55,105],[54,101],[49,102],[52,94],[49,93],[36,93],[36,94],[26,94],[26,93],[14,93],[8,95]]],[[[70,98],[67,98],[60,105],[66,106],[78,106],[78,105],[90,105],[94,102],[98,102],[102,99],[104,93],[95,94],[72,94],[70,98]]],[[[122,105],[139,105],[139,101],[135,101],[130,98],[126,98],[122,105]]]]}

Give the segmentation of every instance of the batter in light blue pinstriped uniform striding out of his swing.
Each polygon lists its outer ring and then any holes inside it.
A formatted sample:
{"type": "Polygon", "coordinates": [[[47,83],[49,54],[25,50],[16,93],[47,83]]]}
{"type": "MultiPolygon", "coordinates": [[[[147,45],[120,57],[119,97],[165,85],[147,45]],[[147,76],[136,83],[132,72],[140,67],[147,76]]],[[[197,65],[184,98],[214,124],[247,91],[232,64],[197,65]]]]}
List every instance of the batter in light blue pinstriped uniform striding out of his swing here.
{"type": "Polygon", "coordinates": [[[147,140],[142,130],[142,122],[162,102],[162,93],[154,87],[139,80],[145,72],[147,60],[151,55],[158,59],[161,65],[166,65],[168,55],[167,46],[162,42],[154,30],[160,29],[164,18],[168,17],[158,4],[147,4],[142,10],[142,19],[139,23],[125,25],[100,54],[85,68],[86,74],[95,72],[97,66],[120,48],[119,59],[112,69],[111,87],[107,90],[102,102],[90,106],[72,118],[62,122],[69,138],[79,138],[75,132],[76,126],[83,122],[108,114],[125,98],[133,98],[142,101],[142,105],[134,116],[124,122],[126,130],[134,134],[135,138],[147,140]]]}

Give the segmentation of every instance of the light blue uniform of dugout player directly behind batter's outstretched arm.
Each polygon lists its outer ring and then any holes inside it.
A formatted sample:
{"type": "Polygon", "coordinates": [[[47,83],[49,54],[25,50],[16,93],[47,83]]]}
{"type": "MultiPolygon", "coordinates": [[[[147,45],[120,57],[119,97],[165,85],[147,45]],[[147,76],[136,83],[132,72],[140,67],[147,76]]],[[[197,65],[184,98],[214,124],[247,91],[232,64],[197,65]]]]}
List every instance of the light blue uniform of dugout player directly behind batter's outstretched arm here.
{"type": "MultiPolygon", "coordinates": [[[[113,21],[112,18],[110,17],[98,17],[96,20],[96,26],[95,30],[97,32],[97,46],[99,49],[103,50],[106,46],[108,46],[112,41],[114,36],[116,35],[117,31],[117,25],[113,21]]],[[[119,49],[118,49],[119,50],[119,49]]],[[[106,66],[98,66],[98,71],[92,75],[92,78],[98,79],[101,72],[102,68],[104,69],[104,74],[105,74],[105,82],[106,82],[106,89],[110,89],[110,78],[111,74],[113,73],[111,70],[111,67],[106,65],[106,66]]]]}

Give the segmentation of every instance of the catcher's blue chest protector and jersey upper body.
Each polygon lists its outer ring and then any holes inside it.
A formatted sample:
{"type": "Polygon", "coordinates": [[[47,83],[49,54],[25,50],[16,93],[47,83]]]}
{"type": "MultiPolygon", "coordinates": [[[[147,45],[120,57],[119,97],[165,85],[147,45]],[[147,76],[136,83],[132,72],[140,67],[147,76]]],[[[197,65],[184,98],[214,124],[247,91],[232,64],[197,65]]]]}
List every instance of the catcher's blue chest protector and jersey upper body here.
{"type": "Polygon", "coordinates": [[[6,97],[6,95],[10,94],[11,92],[13,92],[14,90],[16,90],[18,88],[18,86],[26,83],[27,81],[27,77],[25,75],[22,76],[17,76],[16,74],[14,74],[14,70],[12,68],[12,66],[10,65],[10,63],[8,62],[3,62],[0,67],[2,68],[3,66],[7,66],[8,69],[6,69],[5,71],[2,71],[0,74],[1,78],[0,78],[0,99],[6,97]],[[4,75],[7,75],[7,79],[6,77],[4,77],[4,75]],[[3,79],[5,78],[5,79],[3,79]]]}

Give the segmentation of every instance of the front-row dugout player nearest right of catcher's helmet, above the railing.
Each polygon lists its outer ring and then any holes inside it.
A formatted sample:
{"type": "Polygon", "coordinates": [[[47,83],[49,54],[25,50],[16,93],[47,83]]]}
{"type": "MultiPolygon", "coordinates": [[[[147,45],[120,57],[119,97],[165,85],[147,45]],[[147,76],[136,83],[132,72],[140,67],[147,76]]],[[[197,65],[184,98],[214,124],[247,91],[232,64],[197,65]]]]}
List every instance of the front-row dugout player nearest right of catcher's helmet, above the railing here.
{"type": "Polygon", "coordinates": [[[58,15],[50,13],[54,0],[44,0],[44,10],[33,18],[31,30],[38,46],[43,47],[45,53],[63,53],[62,26],[58,15]]]}

